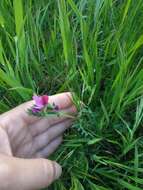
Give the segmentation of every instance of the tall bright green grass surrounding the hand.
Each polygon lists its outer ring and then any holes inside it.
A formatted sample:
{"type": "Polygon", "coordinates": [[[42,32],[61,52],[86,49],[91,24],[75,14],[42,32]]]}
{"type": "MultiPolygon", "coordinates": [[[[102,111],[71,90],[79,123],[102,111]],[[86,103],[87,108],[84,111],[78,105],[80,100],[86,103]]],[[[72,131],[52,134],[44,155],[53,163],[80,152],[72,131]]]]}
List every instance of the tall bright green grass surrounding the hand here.
{"type": "Polygon", "coordinates": [[[143,188],[142,10],[142,0],[0,1],[0,112],[33,92],[85,104],[49,190],[143,188]]]}

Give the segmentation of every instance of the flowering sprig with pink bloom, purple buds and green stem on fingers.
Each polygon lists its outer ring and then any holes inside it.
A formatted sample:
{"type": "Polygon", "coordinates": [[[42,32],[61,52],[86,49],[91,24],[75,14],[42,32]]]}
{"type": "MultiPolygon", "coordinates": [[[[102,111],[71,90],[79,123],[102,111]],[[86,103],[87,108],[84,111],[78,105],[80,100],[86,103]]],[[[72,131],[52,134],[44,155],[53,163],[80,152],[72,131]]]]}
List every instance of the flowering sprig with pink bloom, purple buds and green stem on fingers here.
{"type": "Polygon", "coordinates": [[[47,116],[62,116],[65,115],[67,117],[73,118],[73,116],[66,114],[62,110],[59,109],[58,105],[56,105],[54,102],[51,104],[49,103],[49,96],[43,95],[33,96],[34,104],[33,106],[28,109],[29,115],[34,115],[37,117],[47,117],[47,116]]]}

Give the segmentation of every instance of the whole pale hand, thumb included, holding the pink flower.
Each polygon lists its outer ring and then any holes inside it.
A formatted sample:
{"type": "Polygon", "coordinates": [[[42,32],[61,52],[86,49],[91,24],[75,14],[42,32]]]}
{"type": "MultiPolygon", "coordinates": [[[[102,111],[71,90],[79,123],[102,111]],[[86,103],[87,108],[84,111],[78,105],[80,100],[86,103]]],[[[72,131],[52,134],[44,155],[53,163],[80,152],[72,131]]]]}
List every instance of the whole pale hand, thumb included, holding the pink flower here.
{"type": "MultiPolygon", "coordinates": [[[[76,114],[70,93],[50,96],[60,110],[76,114]]],[[[73,119],[67,116],[38,118],[27,114],[33,101],[0,115],[0,190],[36,190],[61,175],[61,166],[47,158],[61,144],[73,119]]]]}

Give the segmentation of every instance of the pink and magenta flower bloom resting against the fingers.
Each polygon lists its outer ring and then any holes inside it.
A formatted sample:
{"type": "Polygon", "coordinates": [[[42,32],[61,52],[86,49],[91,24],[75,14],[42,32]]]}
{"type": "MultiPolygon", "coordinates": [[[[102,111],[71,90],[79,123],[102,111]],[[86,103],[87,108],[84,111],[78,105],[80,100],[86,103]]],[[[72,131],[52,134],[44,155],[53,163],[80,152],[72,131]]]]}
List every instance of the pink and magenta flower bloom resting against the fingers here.
{"type": "Polygon", "coordinates": [[[40,112],[47,104],[49,101],[49,97],[47,95],[43,96],[33,96],[33,100],[35,101],[34,107],[32,108],[33,113],[40,112]]]}

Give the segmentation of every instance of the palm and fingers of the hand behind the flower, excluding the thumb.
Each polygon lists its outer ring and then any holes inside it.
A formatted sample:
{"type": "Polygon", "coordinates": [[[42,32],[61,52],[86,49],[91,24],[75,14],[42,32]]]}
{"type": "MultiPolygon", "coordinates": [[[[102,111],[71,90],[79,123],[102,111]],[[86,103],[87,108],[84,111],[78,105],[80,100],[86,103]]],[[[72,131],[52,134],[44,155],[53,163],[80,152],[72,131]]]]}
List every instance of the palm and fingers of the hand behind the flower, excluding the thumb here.
{"type": "MultiPolygon", "coordinates": [[[[70,94],[51,96],[49,101],[66,113],[76,112],[70,94]]],[[[0,116],[0,152],[23,158],[47,157],[59,146],[72,120],[29,116],[26,111],[32,104],[27,102],[0,116]]]]}

